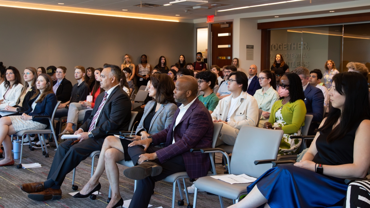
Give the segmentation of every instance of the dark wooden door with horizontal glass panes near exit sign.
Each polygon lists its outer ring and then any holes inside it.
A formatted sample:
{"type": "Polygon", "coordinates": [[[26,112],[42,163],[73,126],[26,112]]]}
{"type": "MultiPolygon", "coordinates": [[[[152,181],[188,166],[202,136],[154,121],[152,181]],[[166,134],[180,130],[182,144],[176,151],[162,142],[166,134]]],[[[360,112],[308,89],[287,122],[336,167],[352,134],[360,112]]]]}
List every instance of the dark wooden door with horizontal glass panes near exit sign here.
{"type": "Polygon", "coordinates": [[[232,22],[226,24],[211,24],[211,65],[217,65],[220,68],[231,65],[232,57],[232,22]]]}

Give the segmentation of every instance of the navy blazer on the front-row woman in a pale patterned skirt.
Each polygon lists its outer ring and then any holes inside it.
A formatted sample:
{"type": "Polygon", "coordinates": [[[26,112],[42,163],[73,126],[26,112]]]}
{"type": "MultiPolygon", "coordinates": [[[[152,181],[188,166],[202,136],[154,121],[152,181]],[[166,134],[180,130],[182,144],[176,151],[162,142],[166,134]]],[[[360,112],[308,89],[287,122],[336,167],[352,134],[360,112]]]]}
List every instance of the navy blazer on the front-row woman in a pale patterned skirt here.
{"type": "MultiPolygon", "coordinates": [[[[32,100],[28,101],[28,110],[24,112],[27,115],[48,115],[50,118],[53,115],[55,105],[57,105],[57,96],[54,93],[50,93],[44,97],[41,103],[37,103],[35,109],[31,108],[32,103],[36,100],[37,96],[32,100]]],[[[32,118],[33,121],[40,122],[41,124],[49,125],[47,118],[32,118]]]]}

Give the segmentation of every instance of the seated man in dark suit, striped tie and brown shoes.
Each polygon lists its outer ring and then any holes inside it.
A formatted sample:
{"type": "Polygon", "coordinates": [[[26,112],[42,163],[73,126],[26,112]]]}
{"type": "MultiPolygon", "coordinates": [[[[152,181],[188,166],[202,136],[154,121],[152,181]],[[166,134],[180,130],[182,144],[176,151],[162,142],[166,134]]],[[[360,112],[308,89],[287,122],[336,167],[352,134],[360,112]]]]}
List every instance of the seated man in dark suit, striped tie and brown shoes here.
{"type": "Polygon", "coordinates": [[[60,186],[65,175],[85,160],[91,152],[101,150],[107,137],[106,132],[128,130],[131,101],[119,85],[121,78],[120,67],[104,65],[99,81],[105,93],[98,95],[90,118],[74,133],[80,135],[78,137],[80,141],[71,144],[77,139],[70,139],[59,145],[46,181],[21,185],[23,191],[30,193],[28,198],[36,201],[60,199],[62,197],[60,186]]]}

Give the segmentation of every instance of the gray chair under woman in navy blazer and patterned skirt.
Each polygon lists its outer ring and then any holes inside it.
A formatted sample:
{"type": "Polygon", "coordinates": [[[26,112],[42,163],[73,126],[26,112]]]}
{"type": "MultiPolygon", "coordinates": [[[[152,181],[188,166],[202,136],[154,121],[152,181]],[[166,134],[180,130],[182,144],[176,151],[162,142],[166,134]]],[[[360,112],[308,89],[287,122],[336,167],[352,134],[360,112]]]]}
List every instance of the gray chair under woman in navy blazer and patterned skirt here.
{"type": "Polygon", "coordinates": [[[19,132],[16,133],[17,137],[22,137],[22,141],[21,141],[21,155],[20,155],[19,164],[17,165],[17,168],[22,168],[22,152],[23,152],[23,139],[24,139],[24,135],[27,135],[28,141],[30,143],[29,148],[32,150],[33,147],[32,147],[32,142],[31,142],[31,139],[30,139],[30,135],[29,134],[39,134],[38,135],[38,138],[41,139],[40,145],[41,145],[41,149],[43,151],[43,155],[45,155],[45,157],[49,157],[49,153],[47,152],[47,147],[46,147],[46,142],[44,140],[44,137],[40,137],[40,134],[53,134],[55,145],[58,148],[58,141],[57,141],[57,137],[55,136],[54,126],[53,126],[53,122],[52,121],[54,120],[55,112],[57,111],[58,105],[60,103],[61,103],[61,101],[57,101],[57,105],[55,105],[55,107],[54,107],[53,115],[51,115],[51,118],[49,116],[47,116],[47,115],[35,115],[35,116],[33,116],[34,118],[47,118],[49,120],[49,125],[48,125],[48,127],[46,127],[46,129],[43,129],[43,130],[22,130],[22,131],[19,131],[19,132]],[[44,151],[44,147],[43,146],[45,146],[45,151],[44,151]]]}

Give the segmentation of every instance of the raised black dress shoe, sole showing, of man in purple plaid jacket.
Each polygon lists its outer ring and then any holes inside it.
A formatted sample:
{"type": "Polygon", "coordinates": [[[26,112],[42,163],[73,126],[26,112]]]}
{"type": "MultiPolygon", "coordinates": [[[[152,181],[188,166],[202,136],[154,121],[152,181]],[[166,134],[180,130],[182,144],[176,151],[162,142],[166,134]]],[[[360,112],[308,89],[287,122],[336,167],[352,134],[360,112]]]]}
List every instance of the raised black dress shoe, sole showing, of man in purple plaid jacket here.
{"type": "Polygon", "coordinates": [[[162,166],[152,161],[142,162],[140,165],[136,165],[131,168],[127,168],[123,171],[123,174],[133,180],[143,180],[148,176],[156,176],[161,174],[162,166]]]}

